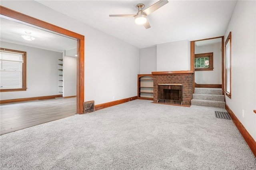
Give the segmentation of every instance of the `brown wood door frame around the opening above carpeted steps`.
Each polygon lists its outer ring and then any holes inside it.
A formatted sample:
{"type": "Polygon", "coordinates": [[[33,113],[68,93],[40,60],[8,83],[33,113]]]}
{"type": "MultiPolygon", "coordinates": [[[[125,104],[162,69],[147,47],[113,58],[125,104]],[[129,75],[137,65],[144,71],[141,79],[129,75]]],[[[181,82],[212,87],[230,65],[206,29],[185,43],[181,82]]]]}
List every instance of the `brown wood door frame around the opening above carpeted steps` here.
{"type": "MultiPolygon", "coordinates": [[[[221,56],[222,56],[222,95],[224,95],[224,36],[221,37],[214,37],[214,38],[207,38],[203,40],[212,40],[216,38],[221,38],[221,56]]],[[[195,59],[195,42],[203,41],[203,40],[195,40],[190,42],[190,71],[193,71],[193,93],[195,89],[195,68],[194,68],[194,59],[195,59]]]]}

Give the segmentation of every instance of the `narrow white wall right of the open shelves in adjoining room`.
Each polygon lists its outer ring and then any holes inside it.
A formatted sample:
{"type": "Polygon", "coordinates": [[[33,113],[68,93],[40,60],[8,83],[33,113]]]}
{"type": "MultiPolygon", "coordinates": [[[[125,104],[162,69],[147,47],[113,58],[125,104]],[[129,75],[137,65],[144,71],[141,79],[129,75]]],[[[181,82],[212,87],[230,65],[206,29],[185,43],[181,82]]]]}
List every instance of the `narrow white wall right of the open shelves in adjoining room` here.
{"type": "Polygon", "coordinates": [[[63,97],[76,96],[76,60],[63,56],[63,97]]]}

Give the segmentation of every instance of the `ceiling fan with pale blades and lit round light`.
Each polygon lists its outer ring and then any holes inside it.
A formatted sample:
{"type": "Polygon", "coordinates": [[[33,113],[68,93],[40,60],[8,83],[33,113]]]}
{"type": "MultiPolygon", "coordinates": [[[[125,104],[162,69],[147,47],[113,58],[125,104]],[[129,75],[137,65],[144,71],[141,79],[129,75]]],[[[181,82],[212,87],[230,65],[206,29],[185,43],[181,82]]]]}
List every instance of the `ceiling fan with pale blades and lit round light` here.
{"type": "Polygon", "coordinates": [[[138,4],[138,13],[135,15],[109,15],[110,17],[134,17],[135,23],[138,25],[144,25],[146,29],[150,28],[150,24],[146,18],[149,14],[157,10],[158,8],[164,6],[168,3],[168,0],[160,0],[156,2],[155,4],[151,5],[150,7],[143,10],[144,4],[138,4]]]}

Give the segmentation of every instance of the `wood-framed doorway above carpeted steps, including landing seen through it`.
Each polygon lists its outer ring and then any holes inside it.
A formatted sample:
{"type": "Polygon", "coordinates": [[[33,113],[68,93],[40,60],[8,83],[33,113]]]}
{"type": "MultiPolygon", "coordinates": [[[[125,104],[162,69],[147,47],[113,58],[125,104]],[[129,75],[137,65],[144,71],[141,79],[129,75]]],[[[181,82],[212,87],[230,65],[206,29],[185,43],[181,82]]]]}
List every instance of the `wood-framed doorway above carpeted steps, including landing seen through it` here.
{"type": "Polygon", "coordinates": [[[195,87],[203,87],[222,88],[222,94],[224,94],[224,36],[192,41],[190,70],[194,72],[193,93],[195,87]],[[212,53],[215,58],[199,56],[209,53],[212,53]]]}

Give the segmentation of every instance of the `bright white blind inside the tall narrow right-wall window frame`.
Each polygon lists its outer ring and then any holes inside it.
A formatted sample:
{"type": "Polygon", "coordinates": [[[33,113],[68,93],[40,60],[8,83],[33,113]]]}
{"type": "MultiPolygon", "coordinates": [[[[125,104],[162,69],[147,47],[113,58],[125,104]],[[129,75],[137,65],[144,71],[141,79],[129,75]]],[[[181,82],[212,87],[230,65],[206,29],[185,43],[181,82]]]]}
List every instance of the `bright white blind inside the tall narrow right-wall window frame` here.
{"type": "Polygon", "coordinates": [[[226,43],[226,92],[230,93],[230,41],[226,43]]]}

